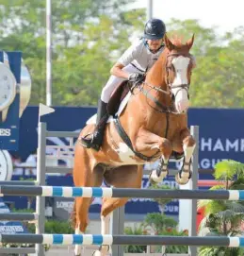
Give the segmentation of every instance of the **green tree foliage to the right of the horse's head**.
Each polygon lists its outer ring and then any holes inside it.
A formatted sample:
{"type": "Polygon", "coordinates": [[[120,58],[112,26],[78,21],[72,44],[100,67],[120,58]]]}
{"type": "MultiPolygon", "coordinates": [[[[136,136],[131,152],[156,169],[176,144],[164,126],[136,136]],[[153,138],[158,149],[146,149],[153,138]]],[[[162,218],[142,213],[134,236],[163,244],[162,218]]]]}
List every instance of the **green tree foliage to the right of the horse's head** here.
{"type": "Polygon", "coordinates": [[[171,21],[171,34],[177,31],[187,39],[195,33],[192,53],[197,59],[190,86],[193,107],[242,108],[244,106],[244,27],[220,36],[214,27],[204,28],[197,20],[171,21]]]}

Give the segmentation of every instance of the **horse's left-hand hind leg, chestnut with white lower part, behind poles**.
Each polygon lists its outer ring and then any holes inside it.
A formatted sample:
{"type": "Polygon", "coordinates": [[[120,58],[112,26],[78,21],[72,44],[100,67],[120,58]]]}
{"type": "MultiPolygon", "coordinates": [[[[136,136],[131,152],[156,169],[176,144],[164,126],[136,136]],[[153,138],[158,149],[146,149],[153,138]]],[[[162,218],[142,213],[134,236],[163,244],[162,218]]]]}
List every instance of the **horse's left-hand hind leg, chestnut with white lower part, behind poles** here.
{"type": "MultiPolygon", "coordinates": [[[[85,148],[78,148],[74,156],[73,182],[75,187],[100,187],[103,182],[103,170],[98,170],[89,162],[85,148]]],[[[89,222],[91,198],[76,197],[73,206],[73,227],[75,234],[85,233],[89,222]]],[[[82,247],[75,245],[74,255],[82,255],[82,247]]]]}

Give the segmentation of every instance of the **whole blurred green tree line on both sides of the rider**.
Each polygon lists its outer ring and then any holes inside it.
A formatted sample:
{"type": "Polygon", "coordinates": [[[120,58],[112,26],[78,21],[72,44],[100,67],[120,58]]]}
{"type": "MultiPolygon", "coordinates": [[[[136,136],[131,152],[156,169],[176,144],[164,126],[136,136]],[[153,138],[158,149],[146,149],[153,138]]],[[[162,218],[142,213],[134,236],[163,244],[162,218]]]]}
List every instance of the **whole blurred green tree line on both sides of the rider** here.
{"type": "MultiPolygon", "coordinates": [[[[54,105],[96,105],[109,70],[130,44],[142,35],[145,9],[129,9],[133,1],[53,0],[54,105]]],[[[30,104],[45,101],[45,2],[0,0],[0,47],[20,50],[30,69],[30,104]]],[[[170,36],[195,34],[196,56],[190,86],[193,107],[244,106],[244,28],[219,35],[198,20],[172,19],[170,36]]]]}

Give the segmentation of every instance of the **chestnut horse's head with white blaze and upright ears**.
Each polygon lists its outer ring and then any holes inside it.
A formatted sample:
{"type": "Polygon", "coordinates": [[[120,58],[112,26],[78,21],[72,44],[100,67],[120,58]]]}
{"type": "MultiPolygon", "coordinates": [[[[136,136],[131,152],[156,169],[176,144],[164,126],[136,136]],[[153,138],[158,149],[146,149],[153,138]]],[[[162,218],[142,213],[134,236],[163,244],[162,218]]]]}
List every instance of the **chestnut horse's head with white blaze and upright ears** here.
{"type": "Polygon", "coordinates": [[[189,107],[189,84],[191,70],[195,65],[189,50],[194,42],[194,35],[187,43],[180,39],[171,41],[167,35],[164,38],[165,46],[169,50],[166,60],[165,81],[169,87],[178,112],[187,111],[189,107]]]}

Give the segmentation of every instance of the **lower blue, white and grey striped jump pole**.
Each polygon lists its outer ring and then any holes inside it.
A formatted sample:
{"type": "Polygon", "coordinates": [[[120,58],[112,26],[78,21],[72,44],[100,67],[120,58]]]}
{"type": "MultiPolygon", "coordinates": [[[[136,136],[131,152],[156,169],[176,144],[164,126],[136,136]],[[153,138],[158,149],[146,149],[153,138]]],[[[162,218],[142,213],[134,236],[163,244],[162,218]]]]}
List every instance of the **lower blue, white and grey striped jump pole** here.
{"type": "Polygon", "coordinates": [[[91,234],[1,234],[0,243],[46,245],[168,245],[199,247],[244,247],[244,237],[151,236],[91,234]]]}

